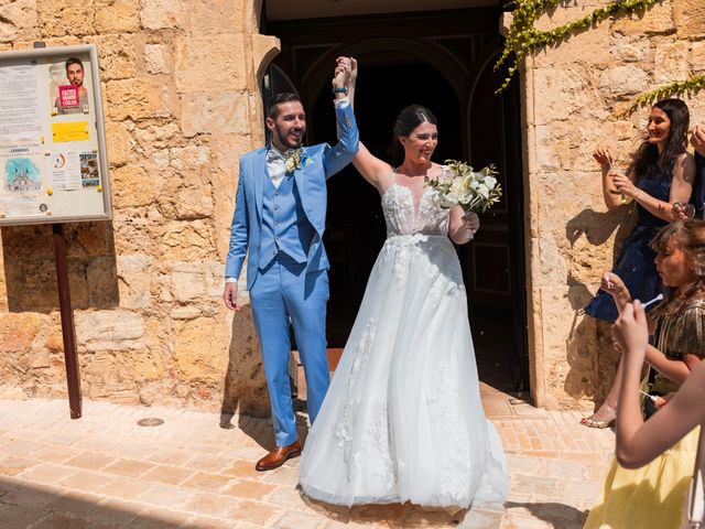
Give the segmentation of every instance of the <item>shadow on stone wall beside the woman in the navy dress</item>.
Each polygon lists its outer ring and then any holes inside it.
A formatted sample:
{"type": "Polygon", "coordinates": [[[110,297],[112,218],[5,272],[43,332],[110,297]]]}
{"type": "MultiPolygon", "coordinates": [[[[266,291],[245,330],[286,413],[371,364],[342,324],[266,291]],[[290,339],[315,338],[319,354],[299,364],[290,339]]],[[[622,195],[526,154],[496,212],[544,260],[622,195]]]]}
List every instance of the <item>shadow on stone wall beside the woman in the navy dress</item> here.
{"type": "MultiPolygon", "coordinates": [[[[586,260],[595,262],[599,256],[593,255],[592,248],[605,244],[617,229],[612,264],[610,268],[605,268],[604,271],[607,271],[614,268],[621,244],[631,231],[634,220],[633,208],[630,208],[627,214],[623,210],[595,212],[592,208],[585,208],[567,222],[565,235],[572,248],[579,237],[585,236],[589,244],[589,248],[586,250],[588,253],[586,260]]],[[[600,270],[600,276],[601,272],[600,270]]],[[[619,364],[619,353],[612,346],[611,323],[596,320],[583,313],[585,306],[593,299],[592,291],[598,287],[597,284],[590,284],[588,288],[573,273],[570,273],[567,287],[567,298],[573,310],[573,323],[565,344],[570,370],[565,377],[563,389],[575,399],[588,397],[595,401],[596,406],[599,406],[609,391],[619,364]]]]}

